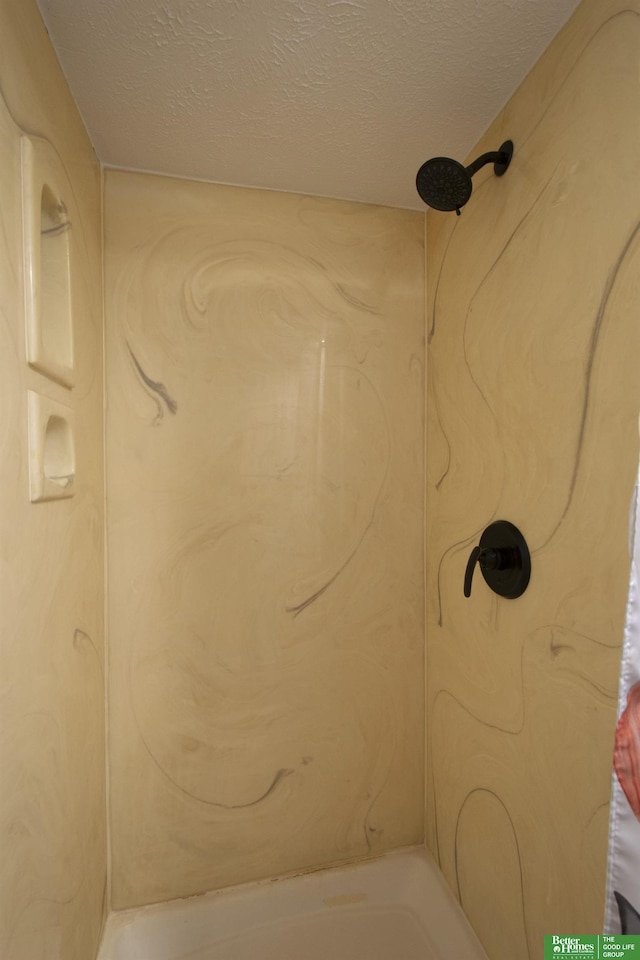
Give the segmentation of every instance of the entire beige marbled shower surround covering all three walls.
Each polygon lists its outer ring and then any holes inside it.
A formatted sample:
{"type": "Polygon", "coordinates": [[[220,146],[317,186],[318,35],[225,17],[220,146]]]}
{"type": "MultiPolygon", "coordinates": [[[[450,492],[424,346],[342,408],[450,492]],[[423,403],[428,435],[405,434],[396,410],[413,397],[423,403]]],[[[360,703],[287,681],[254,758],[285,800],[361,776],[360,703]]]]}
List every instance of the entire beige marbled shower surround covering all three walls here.
{"type": "MultiPolygon", "coordinates": [[[[507,176],[428,218],[426,832],[492,960],[602,922],[639,47],[638,0],[584,0],[473,152],[512,137],[507,176]],[[529,590],[498,601],[476,576],[465,600],[500,516],[529,540],[529,590]]],[[[35,4],[2,0],[0,53],[0,955],[87,960],[106,897],[99,168],[35,4]],[[74,192],[73,391],[26,364],[23,130],[74,192]],[[27,390],[74,410],[72,499],[28,502],[27,390]]],[[[419,839],[423,218],[113,172],[106,202],[114,904],[419,839]]]]}

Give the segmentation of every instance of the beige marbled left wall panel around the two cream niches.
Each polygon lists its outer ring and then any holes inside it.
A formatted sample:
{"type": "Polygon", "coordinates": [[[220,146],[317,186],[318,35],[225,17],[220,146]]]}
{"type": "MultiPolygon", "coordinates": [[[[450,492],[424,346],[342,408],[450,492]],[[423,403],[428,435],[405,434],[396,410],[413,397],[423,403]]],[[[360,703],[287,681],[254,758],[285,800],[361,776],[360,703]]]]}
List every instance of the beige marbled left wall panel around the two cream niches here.
{"type": "Polygon", "coordinates": [[[100,170],[40,15],[31,0],[2,0],[0,956],[6,960],[91,960],[106,905],[100,247],[100,170]],[[58,158],[69,184],[63,199],[76,294],[73,389],[27,365],[25,133],[58,158]],[[75,417],[70,499],[29,501],[28,390],[75,417]]]}

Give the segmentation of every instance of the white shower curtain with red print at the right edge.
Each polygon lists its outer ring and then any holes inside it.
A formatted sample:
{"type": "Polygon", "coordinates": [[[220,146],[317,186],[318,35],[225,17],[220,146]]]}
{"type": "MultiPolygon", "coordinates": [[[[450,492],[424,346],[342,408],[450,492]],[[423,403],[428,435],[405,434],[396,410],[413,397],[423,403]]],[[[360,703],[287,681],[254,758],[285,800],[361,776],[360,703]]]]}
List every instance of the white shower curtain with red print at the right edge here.
{"type": "Polygon", "coordinates": [[[631,573],[613,758],[606,934],[640,934],[640,470],[632,498],[631,573]]]}

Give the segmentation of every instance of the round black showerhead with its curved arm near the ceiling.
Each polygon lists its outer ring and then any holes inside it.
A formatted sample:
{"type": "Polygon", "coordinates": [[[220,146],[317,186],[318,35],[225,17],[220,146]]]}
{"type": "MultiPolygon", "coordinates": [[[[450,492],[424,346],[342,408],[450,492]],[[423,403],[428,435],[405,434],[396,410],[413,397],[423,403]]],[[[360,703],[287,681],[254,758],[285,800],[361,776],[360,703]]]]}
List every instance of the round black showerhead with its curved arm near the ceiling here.
{"type": "Polygon", "coordinates": [[[416,187],[424,202],[434,210],[455,210],[460,214],[473,189],[471,177],[486,163],[493,163],[497,177],[506,172],[513,155],[513,143],[506,140],[499,150],[483,153],[464,167],[449,157],[433,157],[418,170],[416,187]]]}

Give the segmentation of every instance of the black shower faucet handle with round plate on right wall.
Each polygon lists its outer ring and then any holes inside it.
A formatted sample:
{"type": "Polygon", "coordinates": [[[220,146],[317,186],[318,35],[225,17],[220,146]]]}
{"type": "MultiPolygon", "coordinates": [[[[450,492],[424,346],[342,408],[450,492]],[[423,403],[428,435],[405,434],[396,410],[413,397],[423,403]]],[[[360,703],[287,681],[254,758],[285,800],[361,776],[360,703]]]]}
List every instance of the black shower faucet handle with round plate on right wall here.
{"type": "Polygon", "coordinates": [[[464,595],[471,596],[476,563],[487,584],[501,597],[515,600],[527,589],[531,576],[531,555],[526,540],[508,520],[490,523],[474,547],[464,574],[464,595]]]}

